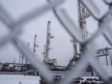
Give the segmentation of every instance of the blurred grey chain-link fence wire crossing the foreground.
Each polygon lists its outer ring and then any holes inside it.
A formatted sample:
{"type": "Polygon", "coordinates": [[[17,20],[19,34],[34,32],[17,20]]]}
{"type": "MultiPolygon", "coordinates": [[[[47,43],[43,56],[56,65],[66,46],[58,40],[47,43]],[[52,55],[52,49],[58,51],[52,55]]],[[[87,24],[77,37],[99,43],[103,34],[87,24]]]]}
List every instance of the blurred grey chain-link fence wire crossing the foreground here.
{"type": "Polygon", "coordinates": [[[24,53],[25,56],[27,56],[31,64],[37,69],[40,76],[43,77],[48,82],[48,84],[70,84],[73,79],[81,75],[83,69],[88,65],[90,65],[96,71],[96,73],[98,73],[98,75],[105,81],[105,83],[111,84],[111,78],[95,58],[94,51],[96,50],[95,38],[97,38],[99,35],[104,36],[107,42],[112,45],[112,26],[110,25],[112,24],[112,0],[104,0],[104,3],[109,6],[109,11],[104,14],[102,14],[99,7],[94,3],[94,0],[81,0],[81,3],[87,7],[93,18],[95,18],[99,23],[99,29],[91,36],[91,38],[87,39],[85,42],[83,42],[81,38],[80,28],[78,28],[76,24],[73,23],[65,9],[57,9],[59,5],[64,3],[65,0],[48,0],[48,4],[34,9],[22,18],[19,18],[17,21],[13,21],[7,11],[5,11],[4,7],[0,4],[0,19],[10,30],[9,35],[0,39],[0,47],[6,45],[9,41],[12,42],[12,44],[17,49],[19,49],[22,53],[24,53]],[[64,74],[65,77],[58,82],[54,80],[55,74],[48,70],[46,65],[42,64],[40,60],[35,59],[35,54],[32,53],[29,47],[20,38],[17,37],[21,34],[23,29],[22,26],[25,23],[34,19],[35,17],[41,17],[42,14],[45,14],[50,10],[53,11],[57,20],[61,23],[63,28],[74,38],[74,40],[85,46],[84,56],[82,56],[77,65],[74,66],[66,74],[64,74]]]}

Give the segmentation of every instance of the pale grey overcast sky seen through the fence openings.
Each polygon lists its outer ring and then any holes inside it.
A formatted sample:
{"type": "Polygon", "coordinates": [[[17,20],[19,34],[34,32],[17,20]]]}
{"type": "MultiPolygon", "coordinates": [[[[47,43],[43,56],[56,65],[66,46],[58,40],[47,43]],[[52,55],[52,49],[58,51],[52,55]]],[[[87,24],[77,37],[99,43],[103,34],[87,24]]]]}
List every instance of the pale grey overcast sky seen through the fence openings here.
{"type": "MultiPolygon", "coordinates": [[[[100,2],[101,0],[99,0],[100,2]]],[[[38,8],[47,4],[46,0],[0,0],[0,4],[4,6],[7,12],[11,15],[14,20],[18,20],[24,14],[30,12],[32,9],[38,8]]],[[[77,0],[66,0],[61,6],[65,8],[71,19],[78,25],[78,13],[77,13],[77,0]]],[[[106,6],[102,5],[105,9],[106,6]]],[[[19,37],[27,42],[30,42],[30,48],[32,50],[34,35],[37,34],[37,48],[36,55],[38,59],[43,60],[44,45],[46,42],[46,29],[47,22],[51,21],[51,33],[54,35],[54,39],[51,40],[51,51],[49,58],[56,58],[58,64],[66,65],[69,60],[73,57],[73,45],[70,42],[72,39],[64,28],[57,21],[52,11],[41,15],[41,17],[34,18],[27,24],[23,25],[23,33],[19,37]]],[[[9,31],[6,26],[0,21],[0,38],[6,35],[9,31]]],[[[92,18],[87,19],[87,30],[93,34],[97,29],[97,22],[92,18]]],[[[98,40],[99,48],[109,46],[103,37],[99,37],[98,40]],[[102,42],[103,41],[103,42],[102,42]]],[[[18,62],[19,53],[11,43],[8,43],[3,48],[0,48],[0,61],[1,62],[18,62]]]]}

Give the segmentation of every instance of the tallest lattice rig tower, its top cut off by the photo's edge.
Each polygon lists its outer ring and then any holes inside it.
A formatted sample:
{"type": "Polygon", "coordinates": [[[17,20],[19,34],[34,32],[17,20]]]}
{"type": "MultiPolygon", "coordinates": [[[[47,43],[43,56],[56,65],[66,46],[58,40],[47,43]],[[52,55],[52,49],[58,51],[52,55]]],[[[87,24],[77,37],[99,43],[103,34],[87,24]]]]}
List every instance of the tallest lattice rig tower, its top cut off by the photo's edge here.
{"type": "MultiPolygon", "coordinates": [[[[81,0],[77,0],[78,4],[78,23],[82,32],[82,40],[85,42],[88,37],[87,22],[86,19],[90,16],[86,7],[81,3],[81,0]]],[[[83,54],[84,45],[80,44],[80,53],[83,54]]]]}

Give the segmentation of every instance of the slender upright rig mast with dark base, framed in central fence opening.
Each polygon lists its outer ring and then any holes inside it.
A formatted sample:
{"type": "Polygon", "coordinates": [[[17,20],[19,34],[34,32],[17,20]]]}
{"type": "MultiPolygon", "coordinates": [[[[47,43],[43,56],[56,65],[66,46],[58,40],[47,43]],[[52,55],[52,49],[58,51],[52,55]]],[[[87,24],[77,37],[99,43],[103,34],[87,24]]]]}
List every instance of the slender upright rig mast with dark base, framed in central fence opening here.
{"type": "MultiPolygon", "coordinates": [[[[44,46],[44,63],[48,66],[48,68],[53,71],[54,73],[58,73],[60,71],[65,71],[65,68],[63,66],[59,66],[57,65],[57,60],[56,59],[50,59],[49,58],[49,52],[51,50],[50,48],[50,42],[51,42],[51,39],[54,38],[54,36],[51,35],[51,32],[50,32],[50,24],[51,24],[51,21],[48,21],[47,23],[47,35],[46,35],[46,45],[44,46]]],[[[56,79],[57,78],[60,78],[60,74],[59,75],[56,75],[56,79]]],[[[47,84],[47,82],[41,78],[40,80],[40,84],[47,84]]]]}

